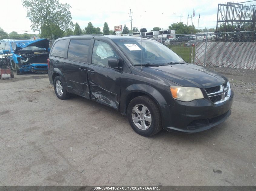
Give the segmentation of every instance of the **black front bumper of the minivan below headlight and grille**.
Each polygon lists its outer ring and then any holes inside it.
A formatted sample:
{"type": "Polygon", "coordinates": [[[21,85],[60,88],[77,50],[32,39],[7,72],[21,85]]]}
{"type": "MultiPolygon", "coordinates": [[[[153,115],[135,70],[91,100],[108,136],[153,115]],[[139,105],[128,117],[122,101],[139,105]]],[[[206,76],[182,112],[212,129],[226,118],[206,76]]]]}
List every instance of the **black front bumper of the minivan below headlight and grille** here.
{"type": "Polygon", "coordinates": [[[214,104],[206,98],[191,102],[174,100],[175,106],[159,105],[163,129],[200,132],[224,122],[231,114],[234,93],[228,100],[214,104]]]}

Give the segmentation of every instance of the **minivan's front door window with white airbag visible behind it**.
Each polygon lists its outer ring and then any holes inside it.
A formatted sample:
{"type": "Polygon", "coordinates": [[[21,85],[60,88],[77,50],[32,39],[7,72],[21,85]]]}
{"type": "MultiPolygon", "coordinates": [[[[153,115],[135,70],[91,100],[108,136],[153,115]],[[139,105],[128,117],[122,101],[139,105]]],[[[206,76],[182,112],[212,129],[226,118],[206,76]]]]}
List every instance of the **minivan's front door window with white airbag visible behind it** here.
{"type": "Polygon", "coordinates": [[[119,56],[108,43],[95,40],[91,62],[96,65],[108,67],[108,59],[110,58],[119,59],[119,56]]]}

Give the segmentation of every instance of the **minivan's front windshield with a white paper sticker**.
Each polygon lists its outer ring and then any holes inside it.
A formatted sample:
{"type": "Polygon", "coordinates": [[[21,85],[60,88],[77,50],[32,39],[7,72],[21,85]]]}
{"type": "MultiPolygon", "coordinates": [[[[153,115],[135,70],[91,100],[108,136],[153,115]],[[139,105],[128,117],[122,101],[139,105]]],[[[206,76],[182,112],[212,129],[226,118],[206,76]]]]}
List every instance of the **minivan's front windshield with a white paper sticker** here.
{"type": "Polygon", "coordinates": [[[133,65],[139,65],[141,63],[143,65],[147,63],[159,65],[167,64],[170,62],[186,63],[181,57],[171,51],[171,49],[154,40],[113,39],[113,41],[126,54],[133,65]]]}

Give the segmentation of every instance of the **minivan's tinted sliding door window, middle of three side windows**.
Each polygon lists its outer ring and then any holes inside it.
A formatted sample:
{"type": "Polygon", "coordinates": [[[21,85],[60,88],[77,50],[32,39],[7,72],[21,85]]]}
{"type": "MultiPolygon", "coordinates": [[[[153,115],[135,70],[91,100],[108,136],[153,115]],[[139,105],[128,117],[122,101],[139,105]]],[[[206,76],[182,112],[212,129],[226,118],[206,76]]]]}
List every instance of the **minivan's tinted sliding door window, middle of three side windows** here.
{"type": "Polygon", "coordinates": [[[87,62],[90,40],[71,40],[68,47],[68,59],[87,62]]]}

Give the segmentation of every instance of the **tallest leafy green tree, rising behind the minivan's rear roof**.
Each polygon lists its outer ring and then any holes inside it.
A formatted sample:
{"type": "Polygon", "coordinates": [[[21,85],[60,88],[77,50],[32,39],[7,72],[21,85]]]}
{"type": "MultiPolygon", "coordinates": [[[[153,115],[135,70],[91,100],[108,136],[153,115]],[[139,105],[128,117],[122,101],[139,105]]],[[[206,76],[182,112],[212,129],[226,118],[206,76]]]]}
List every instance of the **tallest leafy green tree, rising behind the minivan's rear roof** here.
{"type": "MultiPolygon", "coordinates": [[[[40,31],[44,26],[44,29],[47,28],[53,34],[52,26],[58,26],[62,31],[73,27],[70,5],[67,3],[62,4],[58,0],[22,0],[22,5],[32,23],[32,30],[40,31]]],[[[55,29],[54,27],[53,30],[55,29]]]]}

